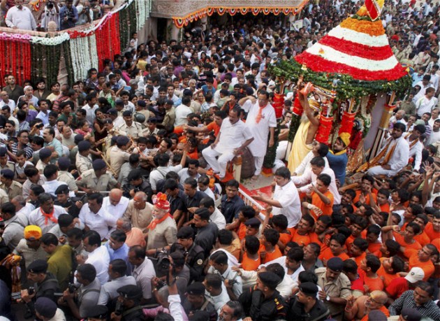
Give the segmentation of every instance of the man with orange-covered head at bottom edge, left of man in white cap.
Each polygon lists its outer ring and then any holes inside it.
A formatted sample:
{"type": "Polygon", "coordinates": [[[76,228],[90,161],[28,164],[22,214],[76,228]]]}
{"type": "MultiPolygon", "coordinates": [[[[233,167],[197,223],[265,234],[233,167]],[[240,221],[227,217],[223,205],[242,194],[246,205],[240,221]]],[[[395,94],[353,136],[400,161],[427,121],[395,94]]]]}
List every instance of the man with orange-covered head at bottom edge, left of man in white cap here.
{"type": "Polygon", "coordinates": [[[345,307],[346,320],[360,320],[367,321],[368,313],[372,310],[382,311],[387,317],[390,316],[390,312],[384,306],[388,296],[383,291],[373,291],[369,295],[362,295],[355,299],[355,297],[349,297],[347,299],[347,305],[345,307]]]}

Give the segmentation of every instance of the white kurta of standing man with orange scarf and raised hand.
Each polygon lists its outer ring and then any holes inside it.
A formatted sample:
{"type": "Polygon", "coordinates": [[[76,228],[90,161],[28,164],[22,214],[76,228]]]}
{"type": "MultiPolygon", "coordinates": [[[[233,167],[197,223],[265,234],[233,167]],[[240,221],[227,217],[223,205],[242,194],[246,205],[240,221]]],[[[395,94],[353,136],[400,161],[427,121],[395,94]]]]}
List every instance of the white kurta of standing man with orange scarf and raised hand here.
{"type": "Polygon", "coordinates": [[[256,117],[258,115],[258,101],[255,104],[251,104],[251,101],[246,101],[243,105],[244,110],[249,110],[246,119],[246,127],[251,130],[251,134],[254,137],[254,141],[249,144],[249,150],[251,150],[254,157],[263,157],[266,155],[267,150],[267,136],[269,135],[270,127],[277,127],[277,117],[275,117],[275,110],[272,105],[267,104],[263,110],[261,110],[261,120],[256,123],[256,117]]]}

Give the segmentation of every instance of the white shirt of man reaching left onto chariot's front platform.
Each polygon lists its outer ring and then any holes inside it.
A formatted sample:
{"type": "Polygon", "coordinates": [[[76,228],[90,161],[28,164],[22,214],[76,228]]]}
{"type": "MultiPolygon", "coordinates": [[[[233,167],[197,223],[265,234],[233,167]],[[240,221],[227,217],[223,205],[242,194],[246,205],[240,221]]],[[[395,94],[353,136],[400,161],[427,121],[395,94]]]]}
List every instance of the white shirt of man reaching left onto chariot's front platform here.
{"type": "Polygon", "coordinates": [[[283,187],[277,185],[273,199],[279,201],[281,208],[273,206],[272,214],[284,214],[287,217],[287,227],[295,227],[301,219],[301,201],[298,190],[292,181],[283,187]]]}

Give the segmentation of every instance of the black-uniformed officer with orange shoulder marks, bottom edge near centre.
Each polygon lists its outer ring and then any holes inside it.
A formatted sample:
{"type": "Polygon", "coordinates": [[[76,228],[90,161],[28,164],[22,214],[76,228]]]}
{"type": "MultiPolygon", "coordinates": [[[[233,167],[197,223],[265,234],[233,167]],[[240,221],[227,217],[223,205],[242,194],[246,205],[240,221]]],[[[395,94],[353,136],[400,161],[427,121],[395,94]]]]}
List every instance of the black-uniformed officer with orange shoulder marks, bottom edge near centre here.
{"type": "Polygon", "coordinates": [[[256,286],[240,295],[246,315],[254,321],[286,318],[286,303],[276,290],[281,279],[273,272],[258,274],[256,286]]]}

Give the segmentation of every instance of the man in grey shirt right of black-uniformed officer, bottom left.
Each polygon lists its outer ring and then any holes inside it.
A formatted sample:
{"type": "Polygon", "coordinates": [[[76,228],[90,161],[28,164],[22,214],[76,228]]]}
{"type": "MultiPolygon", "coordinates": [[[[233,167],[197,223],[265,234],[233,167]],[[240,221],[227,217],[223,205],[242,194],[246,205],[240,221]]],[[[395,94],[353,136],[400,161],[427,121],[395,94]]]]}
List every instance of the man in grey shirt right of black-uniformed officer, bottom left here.
{"type": "Polygon", "coordinates": [[[84,318],[87,308],[98,304],[101,283],[96,278],[96,269],[91,264],[82,264],[76,271],[79,287],[69,284],[68,289],[59,298],[58,304],[68,306],[74,318],[84,318]]]}

